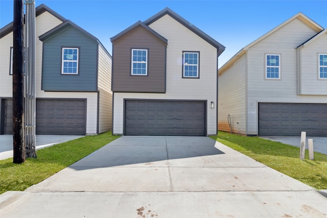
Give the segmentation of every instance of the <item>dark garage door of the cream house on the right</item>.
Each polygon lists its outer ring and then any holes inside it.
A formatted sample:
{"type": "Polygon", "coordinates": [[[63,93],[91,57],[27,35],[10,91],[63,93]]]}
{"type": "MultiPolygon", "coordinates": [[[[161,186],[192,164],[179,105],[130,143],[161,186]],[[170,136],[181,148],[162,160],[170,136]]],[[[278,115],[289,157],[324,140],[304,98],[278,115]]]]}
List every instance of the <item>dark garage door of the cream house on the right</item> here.
{"type": "Polygon", "coordinates": [[[327,104],[259,103],[259,135],[327,136],[327,104]]]}

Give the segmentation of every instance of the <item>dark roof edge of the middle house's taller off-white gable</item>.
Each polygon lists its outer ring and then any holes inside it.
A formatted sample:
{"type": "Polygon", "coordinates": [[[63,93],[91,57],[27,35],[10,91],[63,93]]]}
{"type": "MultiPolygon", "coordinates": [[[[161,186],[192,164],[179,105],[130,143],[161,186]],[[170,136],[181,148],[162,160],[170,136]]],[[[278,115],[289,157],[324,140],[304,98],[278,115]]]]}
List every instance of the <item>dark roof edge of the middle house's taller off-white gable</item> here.
{"type": "Polygon", "coordinates": [[[192,25],[192,23],[190,23],[188,20],[184,19],[183,17],[181,17],[179,14],[177,14],[176,12],[174,12],[173,10],[171,10],[168,7],[166,7],[165,9],[163,9],[161,11],[159,11],[157,14],[153,15],[149,19],[145,20],[144,23],[147,26],[149,26],[151,23],[155,22],[156,20],[160,19],[161,17],[165,16],[166,14],[169,15],[169,16],[171,16],[175,20],[177,20],[179,23],[181,23],[181,25],[183,25],[184,27],[186,27],[189,30],[191,30],[193,33],[195,33],[196,35],[198,35],[199,37],[201,37],[203,40],[205,40],[209,44],[211,44],[214,47],[216,47],[216,49],[218,51],[217,52],[217,55],[218,56],[221,53],[223,53],[223,51],[225,51],[225,48],[226,47],[224,45],[220,44],[214,38],[212,38],[211,36],[207,35],[206,33],[204,33],[199,28],[195,27],[194,25],[192,25]]]}

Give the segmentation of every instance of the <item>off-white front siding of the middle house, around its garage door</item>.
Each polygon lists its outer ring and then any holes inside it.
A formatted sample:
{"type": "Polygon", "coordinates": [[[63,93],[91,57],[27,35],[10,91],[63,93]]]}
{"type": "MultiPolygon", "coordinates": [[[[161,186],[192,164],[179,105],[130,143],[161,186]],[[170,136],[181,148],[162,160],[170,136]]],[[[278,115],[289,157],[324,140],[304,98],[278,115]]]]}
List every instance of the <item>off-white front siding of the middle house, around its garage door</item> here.
{"type": "Polygon", "coordinates": [[[149,27],[168,39],[166,93],[115,93],[113,134],[123,133],[124,99],[207,101],[207,134],[217,134],[217,49],[169,15],[149,27]],[[182,51],[200,52],[199,79],[182,78],[182,51]],[[214,109],[211,102],[215,102],[214,109]]]}

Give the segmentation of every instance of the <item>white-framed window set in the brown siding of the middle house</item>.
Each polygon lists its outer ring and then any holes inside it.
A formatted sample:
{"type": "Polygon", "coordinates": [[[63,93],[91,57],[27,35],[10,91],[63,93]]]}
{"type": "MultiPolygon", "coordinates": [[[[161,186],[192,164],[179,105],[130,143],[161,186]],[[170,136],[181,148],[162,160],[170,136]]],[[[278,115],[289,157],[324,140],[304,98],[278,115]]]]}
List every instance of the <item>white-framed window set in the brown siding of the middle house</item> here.
{"type": "Polygon", "coordinates": [[[131,75],[148,75],[148,50],[132,49],[131,75]]]}

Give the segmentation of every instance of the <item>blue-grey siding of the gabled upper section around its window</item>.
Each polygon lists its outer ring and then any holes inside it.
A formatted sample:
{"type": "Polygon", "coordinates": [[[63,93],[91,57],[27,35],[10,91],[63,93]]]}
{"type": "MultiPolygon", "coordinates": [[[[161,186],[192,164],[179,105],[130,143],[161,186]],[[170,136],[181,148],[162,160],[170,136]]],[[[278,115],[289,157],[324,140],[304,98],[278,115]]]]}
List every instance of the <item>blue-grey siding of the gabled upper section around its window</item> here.
{"type": "Polygon", "coordinates": [[[42,90],[97,91],[98,44],[72,26],[43,41],[42,90]],[[78,75],[61,74],[62,47],[78,47],[78,75]]]}

